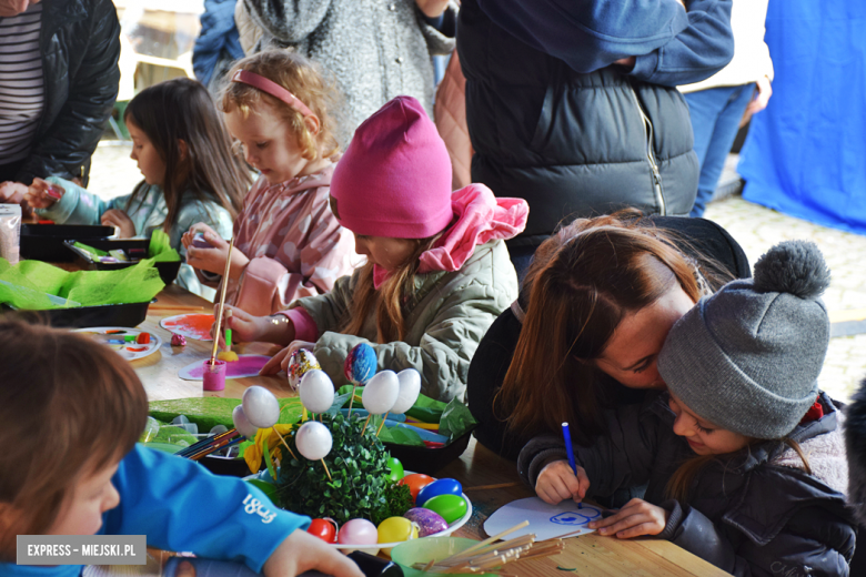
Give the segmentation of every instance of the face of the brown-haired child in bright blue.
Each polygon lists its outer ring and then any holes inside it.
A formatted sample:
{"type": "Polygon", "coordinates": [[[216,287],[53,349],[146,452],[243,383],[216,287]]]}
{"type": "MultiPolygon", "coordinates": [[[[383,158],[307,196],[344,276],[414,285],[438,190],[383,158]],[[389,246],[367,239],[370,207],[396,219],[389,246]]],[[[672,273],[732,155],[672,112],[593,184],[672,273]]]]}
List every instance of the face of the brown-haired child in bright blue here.
{"type": "Polygon", "coordinates": [[[102,527],[102,514],[120,503],[111,484],[119,464],[118,460],[97,472],[85,469],[88,473],[75,483],[47,535],[95,535],[102,527]]]}

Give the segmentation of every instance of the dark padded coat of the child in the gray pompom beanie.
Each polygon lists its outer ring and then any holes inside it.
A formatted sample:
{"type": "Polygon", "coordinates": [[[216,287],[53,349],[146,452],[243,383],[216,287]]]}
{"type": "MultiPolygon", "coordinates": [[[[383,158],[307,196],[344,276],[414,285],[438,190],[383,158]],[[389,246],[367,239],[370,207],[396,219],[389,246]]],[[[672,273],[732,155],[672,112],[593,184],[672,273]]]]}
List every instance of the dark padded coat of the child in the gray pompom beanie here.
{"type": "MultiPolygon", "coordinates": [[[[825,415],[789,435],[808,455],[814,475],[781,442],[765,442],[708,464],[686,503],[665,499],[665,485],[694,453],[673,432],[667,394],[607,412],[610,434],[575,447],[592,496],[648,483],[645,500],[671,512],[658,535],[737,576],[846,576],[856,524],[846,508],[840,413],[822,394],[825,415]]],[[[562,437],[540,436],[517,466],[533,487],[541,469],[565,458],[562,437]]]]}

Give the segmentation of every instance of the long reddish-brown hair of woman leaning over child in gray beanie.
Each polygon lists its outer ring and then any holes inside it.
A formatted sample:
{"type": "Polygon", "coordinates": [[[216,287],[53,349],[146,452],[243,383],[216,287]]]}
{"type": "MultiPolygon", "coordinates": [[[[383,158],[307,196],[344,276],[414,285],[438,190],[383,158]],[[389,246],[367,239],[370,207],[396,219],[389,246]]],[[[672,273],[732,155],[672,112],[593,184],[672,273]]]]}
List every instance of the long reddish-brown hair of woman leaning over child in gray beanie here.
{"type": "Polygon", "coordinates": [[[577,442],[588,444],[603,432],[603,375],[594,361],[620,322],[675,284],[695,302],[701,296],[669,236],[638,226],[634,214],[580,219],[538,247],[524,280],[526,316],[494,399],[510,429],[534,435],[567,421],[577,442]]]}

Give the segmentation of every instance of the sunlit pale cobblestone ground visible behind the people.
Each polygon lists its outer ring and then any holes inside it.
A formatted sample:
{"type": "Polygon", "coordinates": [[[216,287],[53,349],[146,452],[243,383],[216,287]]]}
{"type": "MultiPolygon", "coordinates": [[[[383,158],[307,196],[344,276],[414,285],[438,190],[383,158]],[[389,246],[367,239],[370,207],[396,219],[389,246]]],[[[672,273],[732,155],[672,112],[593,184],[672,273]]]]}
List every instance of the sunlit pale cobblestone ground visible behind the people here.
{"type": "MultiPolygon", "coordinates": [[[[130,151],[129,144],[103,141],[93,155],[90,191],[103,199],[132,192],[141,173],[129,158],[130,151]]],[[[786,216],[741,196],[709,204],[706,217],[727,229],[753,264],[779,241],[814,241],[833,271],[833,282],[824,296],[832,320],[866,318],[866,236],[786,216]]],[[[866,377],[864,351],[866,334],[833,338],[819,377],[822,388],[834,398],[847,401],[857,383],[866,377]]]]}

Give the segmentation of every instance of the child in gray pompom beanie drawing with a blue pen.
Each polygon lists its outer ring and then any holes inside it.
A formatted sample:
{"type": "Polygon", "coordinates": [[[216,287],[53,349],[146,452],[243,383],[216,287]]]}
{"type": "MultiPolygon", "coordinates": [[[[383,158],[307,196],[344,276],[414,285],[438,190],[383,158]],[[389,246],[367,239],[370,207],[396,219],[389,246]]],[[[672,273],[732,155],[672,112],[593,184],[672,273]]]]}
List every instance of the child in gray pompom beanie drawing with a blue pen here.
{"type": "Polygon", "coordinates": [[[561,436],[534,438],[521,476],[551,504],[647,484],[590,527],[658,535],[734,575],[848,575],[844,418],[817,385],[828,284],[814,244],[773,247],[754,281],[728,283],[673,326],[658,356],[667,393],[606,412],[607,434],[576,447],[576,470],[561,436]]]}

